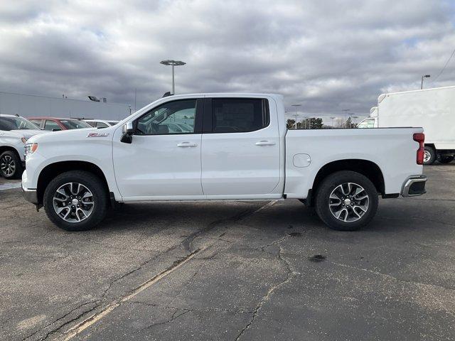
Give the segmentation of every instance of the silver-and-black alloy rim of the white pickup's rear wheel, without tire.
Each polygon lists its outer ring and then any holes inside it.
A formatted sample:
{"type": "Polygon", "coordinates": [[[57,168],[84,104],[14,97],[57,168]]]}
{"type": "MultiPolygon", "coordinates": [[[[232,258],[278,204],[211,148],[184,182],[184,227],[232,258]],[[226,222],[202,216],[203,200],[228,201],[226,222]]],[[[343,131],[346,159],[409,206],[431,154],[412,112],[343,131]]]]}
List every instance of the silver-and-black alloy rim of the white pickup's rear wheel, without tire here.
{"type": "Polygon", "coordinates": [[[368,211],[370,197],[365,188],[357,183],[338,185],[328,200],[328,208],[333,217],[342,222],[356,222],[368,211]]]}

